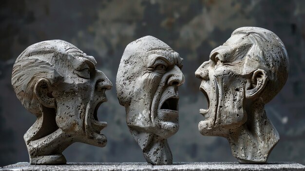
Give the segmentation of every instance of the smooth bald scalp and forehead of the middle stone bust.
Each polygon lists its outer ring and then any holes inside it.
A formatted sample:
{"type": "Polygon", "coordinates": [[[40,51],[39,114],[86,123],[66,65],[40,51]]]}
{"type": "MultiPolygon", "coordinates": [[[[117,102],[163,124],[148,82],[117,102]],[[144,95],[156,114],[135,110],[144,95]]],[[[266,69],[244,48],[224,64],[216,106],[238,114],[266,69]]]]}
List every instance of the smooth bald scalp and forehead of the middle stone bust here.
{"type": "Polygon", "coordinates": [[[157,57],[182,66],[182,58],[172,48],[152,36],[145,36],[129,43],[125,48],[116,76],[117,97],[121,105],[130,104],[136,78],[152,65],[157,57]],[[162,55],[160,55],[162,54],[162,55]]]}

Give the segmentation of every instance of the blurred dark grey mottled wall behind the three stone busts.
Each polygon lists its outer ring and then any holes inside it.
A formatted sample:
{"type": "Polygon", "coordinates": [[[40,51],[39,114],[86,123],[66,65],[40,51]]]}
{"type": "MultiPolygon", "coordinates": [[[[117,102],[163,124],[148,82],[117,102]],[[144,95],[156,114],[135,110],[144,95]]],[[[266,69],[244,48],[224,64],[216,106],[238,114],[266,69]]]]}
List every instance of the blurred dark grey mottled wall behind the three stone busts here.
{"type": "Polygon", "coordinates": [[[107,121],[105,148],[75,143],[68,162],[145,162],[128,131],[115,94],[115,76],[124,48],[151,35],[184,58],[178,133],[169,138],[174,162],[236,161],[225,138],[202,136],[199,108],[207,101],[194,72],[238,27],[258,26],[278,35],[289,55],[286,86],[266,112],[281,139],[268,161],[305,164],[305,1],[304,0],[1,0],[0,1],[0,166],[29,161],[23,134],[36,117],[11,86],[12,66],[29,45],[63,39],[94,56],[113,82],[98,111],[107,121]]]}

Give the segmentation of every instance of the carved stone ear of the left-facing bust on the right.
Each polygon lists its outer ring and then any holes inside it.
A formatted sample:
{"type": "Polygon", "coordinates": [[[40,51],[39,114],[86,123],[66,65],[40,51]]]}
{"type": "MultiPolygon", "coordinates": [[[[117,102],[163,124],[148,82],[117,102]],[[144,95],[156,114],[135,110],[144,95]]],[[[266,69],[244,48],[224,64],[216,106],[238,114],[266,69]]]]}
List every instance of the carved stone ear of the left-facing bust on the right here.
{"type": "Polygon", "coordinates": [[[262,69],[257,69],[252,76],[247,79],[246,98],[255,98],[261,94],[267,84],[267,73],[262,69]]]}

